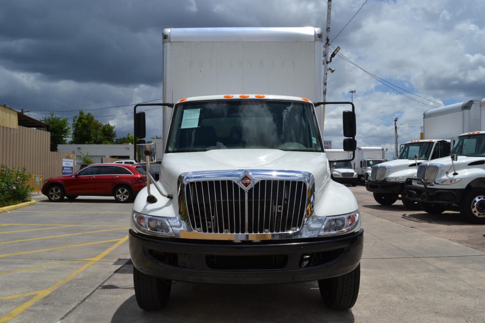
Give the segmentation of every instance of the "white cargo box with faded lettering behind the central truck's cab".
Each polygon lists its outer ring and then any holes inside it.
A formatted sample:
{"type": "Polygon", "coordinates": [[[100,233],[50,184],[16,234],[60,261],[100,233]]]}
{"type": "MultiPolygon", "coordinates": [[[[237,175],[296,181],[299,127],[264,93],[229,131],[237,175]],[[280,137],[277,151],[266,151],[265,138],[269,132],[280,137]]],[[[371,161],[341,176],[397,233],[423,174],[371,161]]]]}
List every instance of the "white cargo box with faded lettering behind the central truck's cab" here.
{"type": "MultiPolygon", "coordinates": [[[[162,37],[163,102],[236,93],[323,101],[320,28],[172,28],[162,37]]],[[[171,113],[163,109],[163,150],[171,113]]],[[[316,114],[323,133],[323,108],[316,114]]]]}

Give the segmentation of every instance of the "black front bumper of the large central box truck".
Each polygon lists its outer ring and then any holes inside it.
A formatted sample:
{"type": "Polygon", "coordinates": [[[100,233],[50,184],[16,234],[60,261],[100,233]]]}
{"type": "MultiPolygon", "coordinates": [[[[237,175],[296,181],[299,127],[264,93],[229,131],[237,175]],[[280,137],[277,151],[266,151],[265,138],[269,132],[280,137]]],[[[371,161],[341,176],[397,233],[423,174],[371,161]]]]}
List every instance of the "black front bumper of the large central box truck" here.
{"type": "Polygon", "coordinates": [[[239,244],[159,239],[129,230],[129,253],[139,271],[165,279],[204,283],[268,284],[336,277],[357,267],[363,246],[363,229],[320,239],[239,244]],[[310,256],[305,258],[306,264],[304,256],[310,256]],[[311,257],[318,260],[308,266],[314,262],[311,257]],[[269,259],[273,261],[268,266],[269,259]],[[261,268],[238,267],[248,267],[245,263],[253,261],[261,268]]]}

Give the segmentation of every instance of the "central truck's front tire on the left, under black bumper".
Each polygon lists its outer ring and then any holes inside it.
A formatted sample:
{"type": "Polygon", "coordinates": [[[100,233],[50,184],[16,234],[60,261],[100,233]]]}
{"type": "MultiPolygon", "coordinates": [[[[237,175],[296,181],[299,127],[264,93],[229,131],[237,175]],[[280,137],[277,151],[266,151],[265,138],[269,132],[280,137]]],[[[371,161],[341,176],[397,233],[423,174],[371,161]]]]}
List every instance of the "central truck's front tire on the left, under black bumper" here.
{"type": "Polygon", "coordinates": [[[142,309],[162,309],[170,298],[171,284],[171,280],[146,275],[133,266],[136,302],[142,309]]]}

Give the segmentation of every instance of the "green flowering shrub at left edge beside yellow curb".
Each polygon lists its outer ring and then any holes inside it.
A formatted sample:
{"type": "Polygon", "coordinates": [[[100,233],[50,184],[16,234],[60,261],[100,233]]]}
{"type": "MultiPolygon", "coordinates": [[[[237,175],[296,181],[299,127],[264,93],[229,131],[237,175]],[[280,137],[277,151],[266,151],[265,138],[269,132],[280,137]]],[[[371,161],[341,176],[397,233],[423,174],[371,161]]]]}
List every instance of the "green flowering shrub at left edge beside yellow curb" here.
{"type": "Polygon", "coordinates": [[[30,201],[31,177],[25,167],[0,165],[0,207],[30,201]]]}

